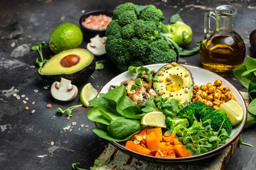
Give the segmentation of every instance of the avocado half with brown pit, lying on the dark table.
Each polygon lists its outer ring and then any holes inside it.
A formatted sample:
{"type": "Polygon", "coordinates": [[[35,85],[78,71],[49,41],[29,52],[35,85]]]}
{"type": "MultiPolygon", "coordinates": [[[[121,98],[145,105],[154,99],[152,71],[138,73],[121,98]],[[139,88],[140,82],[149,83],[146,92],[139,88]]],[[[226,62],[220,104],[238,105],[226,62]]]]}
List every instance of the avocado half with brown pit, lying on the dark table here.
{"type": "Polygon", "coordinates": [[[38,69],[38,74],[50,81],[58,81],[63,77],[73,83],[80,83],[88,79],[94,71],[95,57],[92,52],[75,48],[51,57],[43,67],[38,69]]]}

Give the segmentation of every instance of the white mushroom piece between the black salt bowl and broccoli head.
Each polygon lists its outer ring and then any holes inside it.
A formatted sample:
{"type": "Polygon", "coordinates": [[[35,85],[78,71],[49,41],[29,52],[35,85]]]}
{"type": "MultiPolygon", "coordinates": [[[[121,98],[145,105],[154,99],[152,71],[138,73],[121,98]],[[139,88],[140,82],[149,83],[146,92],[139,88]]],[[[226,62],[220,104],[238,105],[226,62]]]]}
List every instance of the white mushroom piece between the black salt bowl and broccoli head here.
{"type": "Polygon", "coordinates": [[[105,55],[106,40],[107,37],[100,38],[100,35],[96,35],[94,38],[90,38],[90,42],[87,43],[87,50],[92,52],[92,54],[95,56],[105,55]]]}

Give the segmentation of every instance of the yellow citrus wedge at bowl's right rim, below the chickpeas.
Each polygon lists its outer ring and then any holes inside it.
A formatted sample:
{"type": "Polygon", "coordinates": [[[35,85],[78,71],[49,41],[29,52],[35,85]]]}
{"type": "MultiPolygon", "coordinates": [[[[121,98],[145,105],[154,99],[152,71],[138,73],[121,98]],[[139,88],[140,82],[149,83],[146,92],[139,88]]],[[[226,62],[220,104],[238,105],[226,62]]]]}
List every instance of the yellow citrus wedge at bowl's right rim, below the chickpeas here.
{"type": "Polygon", "coordinates": [[[237,125],[240,123],[244,117],[244,112],[240,104],[234,100],[230,100],[226,103],[220,105],[220,111],[227,114],[228,118],[231,120],[231,125],[237,125]]]}

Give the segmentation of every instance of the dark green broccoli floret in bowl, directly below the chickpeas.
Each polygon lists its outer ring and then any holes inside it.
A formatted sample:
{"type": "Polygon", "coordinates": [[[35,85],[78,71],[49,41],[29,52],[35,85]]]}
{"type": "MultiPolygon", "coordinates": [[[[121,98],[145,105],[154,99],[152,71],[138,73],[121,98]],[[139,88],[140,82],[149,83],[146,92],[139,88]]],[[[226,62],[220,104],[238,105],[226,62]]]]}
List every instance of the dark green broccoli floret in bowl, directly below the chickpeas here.
{"type": "Polygon", "coordinates": [[[181,111],[178,113],[178,116],[181,118],[188,118],[189,124],[192,125],[195,120],[193,115],[196,117],[196,120],[200,122],[200,119],[210,112],[213,112],[213,108],[207,106],[206,103],[195,101],[181,109],[181,111]]]}

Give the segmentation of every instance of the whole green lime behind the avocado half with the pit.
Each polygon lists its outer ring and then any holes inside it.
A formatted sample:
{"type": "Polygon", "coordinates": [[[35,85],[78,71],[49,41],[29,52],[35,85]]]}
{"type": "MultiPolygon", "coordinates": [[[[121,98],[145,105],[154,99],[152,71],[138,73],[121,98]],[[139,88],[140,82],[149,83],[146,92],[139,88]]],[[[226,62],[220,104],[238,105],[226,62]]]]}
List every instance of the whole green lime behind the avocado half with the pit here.
{"type": "Polygon", "coordinates": [[[82,31],[73,23],[63,23],[50,33],[49,46],[54,53],[77,48],[82,43],[82,31]]]}

